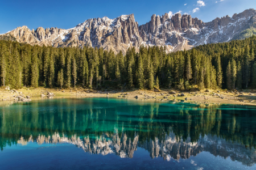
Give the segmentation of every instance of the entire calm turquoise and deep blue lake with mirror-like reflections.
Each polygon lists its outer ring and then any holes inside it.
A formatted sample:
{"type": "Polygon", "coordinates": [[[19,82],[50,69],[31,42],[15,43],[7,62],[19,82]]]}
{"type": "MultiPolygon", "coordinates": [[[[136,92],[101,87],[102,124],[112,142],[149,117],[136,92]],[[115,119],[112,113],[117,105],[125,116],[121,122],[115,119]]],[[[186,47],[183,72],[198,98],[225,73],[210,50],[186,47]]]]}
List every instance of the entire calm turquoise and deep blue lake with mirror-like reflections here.
{"type": "Polygon", "coordinates": [[[1,169],[256,169],[256,108],[105,98],[0,108],[1,169]]]}

